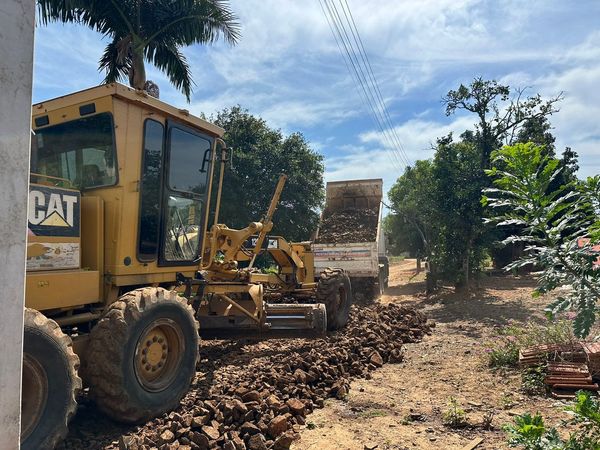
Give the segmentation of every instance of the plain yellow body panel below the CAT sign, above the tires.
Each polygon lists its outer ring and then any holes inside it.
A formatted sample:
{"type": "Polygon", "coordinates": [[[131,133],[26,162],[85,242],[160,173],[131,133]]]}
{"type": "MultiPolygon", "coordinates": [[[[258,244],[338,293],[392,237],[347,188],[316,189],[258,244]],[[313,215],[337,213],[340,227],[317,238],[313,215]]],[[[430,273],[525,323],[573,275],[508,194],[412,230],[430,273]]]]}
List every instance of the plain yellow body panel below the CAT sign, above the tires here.
{"type": "Polygon", "coordinates": [[[99,298],[97,270],[54,270],[28,273],[25,306],[38,311],[96,303],[99,298]]]}

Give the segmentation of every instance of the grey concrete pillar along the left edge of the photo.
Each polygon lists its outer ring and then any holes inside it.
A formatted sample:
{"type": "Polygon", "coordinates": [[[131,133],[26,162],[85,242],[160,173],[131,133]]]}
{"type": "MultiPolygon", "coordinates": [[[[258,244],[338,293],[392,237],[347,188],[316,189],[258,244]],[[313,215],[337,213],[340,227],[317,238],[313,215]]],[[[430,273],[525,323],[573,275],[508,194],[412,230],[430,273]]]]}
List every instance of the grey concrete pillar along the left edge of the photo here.
{"type": "Polygon", "coordinates": [[[35,0],[0,1],[0,449],[18,449],[35,0]]]}

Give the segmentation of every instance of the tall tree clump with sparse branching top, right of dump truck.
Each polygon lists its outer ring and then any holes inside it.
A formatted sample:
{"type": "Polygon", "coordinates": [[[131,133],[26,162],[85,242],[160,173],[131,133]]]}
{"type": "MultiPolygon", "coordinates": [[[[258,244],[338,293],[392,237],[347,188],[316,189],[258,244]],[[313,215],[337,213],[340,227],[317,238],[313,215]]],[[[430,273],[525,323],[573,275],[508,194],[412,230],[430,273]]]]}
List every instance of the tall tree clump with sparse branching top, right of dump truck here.
{"type": "MultiPolygon", "coordinates": [[[[432,276],[457,286],[469,287],[487,254],[496,254],[493,242],[503,238],[484,223],[486,211],[480,204],[481,191],[491,186],[484,170],[490,168],[492,152],[503,143],[534,140],[554,156],[554,136],[548,117],[557,111],[561,96],[548,100],[540,95],[525,96],[522,89],[511,89],[494,80],[475,78],[444,97],[446,114],[466,111],[476,115],[473,129],[465,130],[460,140],[441,137],[431,161],[417,161],[392,187],[389,197],[402,224],[411,224],[422,237],[422,250],[430,260],[432,276]],[[418,176],[416,176],[418,175],[418,176]],[[423,182],[426,180],[426,182],[423,182]]],[[[568,184],[576,170],[576,154],[565,153],[564,179],[556,179],[551,189],[568,184]]],[[[518,230],[518,226],[516,226],[518,230]]],[[[402,242],[402,239],[398,239],[402,242]]],[[[406,242],[414,243],[413,242],[406,242]]],[[[513,251],[501,255],[510,260],[513,251]]]]}

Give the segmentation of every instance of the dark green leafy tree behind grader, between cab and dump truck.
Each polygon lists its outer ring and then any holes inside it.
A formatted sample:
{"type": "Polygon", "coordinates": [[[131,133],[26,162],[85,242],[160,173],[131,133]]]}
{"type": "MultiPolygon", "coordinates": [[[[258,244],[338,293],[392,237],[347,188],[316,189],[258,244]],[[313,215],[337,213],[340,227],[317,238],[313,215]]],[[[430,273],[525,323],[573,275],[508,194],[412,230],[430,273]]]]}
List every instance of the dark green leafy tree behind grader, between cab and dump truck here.
{"type": "Polygon", "coordinates": [[[300,133],[281,131],[239,106],[224,109],[212,120],[226,130],[233,149],[227,166],[219,222],[240,228],[267,211],[279,175],[288,176],[274,216],[272,234],[288,240],[309,240],[323,204],[323,157],[300,133]]]}

